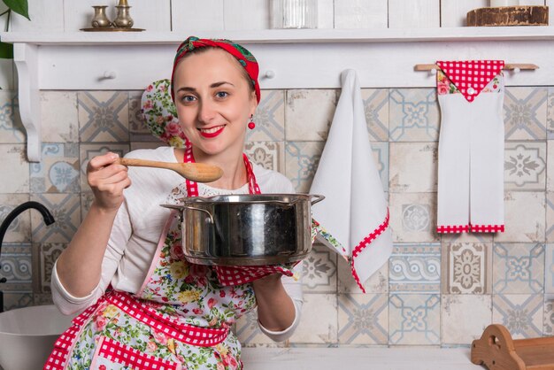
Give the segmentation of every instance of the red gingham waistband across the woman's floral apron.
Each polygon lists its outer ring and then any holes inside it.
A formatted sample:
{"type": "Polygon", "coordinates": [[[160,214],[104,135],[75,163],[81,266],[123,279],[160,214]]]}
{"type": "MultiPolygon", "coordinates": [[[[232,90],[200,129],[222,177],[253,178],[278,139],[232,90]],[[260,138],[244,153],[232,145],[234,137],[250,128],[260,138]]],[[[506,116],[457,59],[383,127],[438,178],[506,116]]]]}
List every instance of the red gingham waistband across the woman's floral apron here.
{"type": "Polygon", "coordinates": [[[143,304],[135,297],[131,297],[131,295],[124,292],[114,290],[106,300],[150,328],[169,335],[182,343],[199,347],[211,347],[223,342],[229,331],[228,328],[199,328],[183,324],[177,320],[171,320],[149,305],[143,304]]]}

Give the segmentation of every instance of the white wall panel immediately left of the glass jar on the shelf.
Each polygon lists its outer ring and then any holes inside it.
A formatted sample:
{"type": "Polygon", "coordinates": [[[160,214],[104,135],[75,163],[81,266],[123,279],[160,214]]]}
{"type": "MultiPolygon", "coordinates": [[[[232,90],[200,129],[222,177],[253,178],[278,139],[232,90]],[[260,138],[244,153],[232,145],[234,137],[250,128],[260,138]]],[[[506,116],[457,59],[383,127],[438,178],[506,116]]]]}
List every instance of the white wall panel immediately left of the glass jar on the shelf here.
{"type": "Polygon", "coordinates": [[[269,0],[225,0],[225,29],[269,28],[269,0]]]}

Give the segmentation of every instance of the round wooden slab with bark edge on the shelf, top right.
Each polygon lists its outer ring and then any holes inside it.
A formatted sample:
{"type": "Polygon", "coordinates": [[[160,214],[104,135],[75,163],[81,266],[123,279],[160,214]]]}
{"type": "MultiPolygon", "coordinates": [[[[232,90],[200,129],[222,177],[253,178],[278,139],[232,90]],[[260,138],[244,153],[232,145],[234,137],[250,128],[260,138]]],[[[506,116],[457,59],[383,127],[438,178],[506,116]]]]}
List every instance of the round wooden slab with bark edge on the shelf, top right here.
{"type": "Polygon", "coordinates": [[[548,26],[548,6],[500,6],[467,12],[467,26],[548,26]]]}

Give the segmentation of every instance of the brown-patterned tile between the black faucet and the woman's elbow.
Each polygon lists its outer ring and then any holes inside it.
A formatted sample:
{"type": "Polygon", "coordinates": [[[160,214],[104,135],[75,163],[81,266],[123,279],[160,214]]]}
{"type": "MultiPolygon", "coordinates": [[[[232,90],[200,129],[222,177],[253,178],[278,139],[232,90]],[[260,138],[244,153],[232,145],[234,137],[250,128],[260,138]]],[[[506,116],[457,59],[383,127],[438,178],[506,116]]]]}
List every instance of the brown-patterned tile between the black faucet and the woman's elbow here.
{"type": "Polygon", "coordinates": [[[50,292],[50,277],[54,263],[62,251],[65,243],[42,243],[33,245],[33,285],[35,293],[50,292]]]}

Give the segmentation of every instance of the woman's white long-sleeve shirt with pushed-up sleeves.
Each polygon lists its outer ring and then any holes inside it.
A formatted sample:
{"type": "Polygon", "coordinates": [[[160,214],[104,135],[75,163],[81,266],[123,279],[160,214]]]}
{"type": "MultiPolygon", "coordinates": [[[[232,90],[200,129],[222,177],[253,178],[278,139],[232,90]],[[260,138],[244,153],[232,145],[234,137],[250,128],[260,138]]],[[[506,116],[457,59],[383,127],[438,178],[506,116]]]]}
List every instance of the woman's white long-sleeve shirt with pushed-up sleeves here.
{"type": "MultiPolygon", "coordinates": [[[[159,147],[156,150],[135,150],[127,158],[143,158],[163,162],[177,162],[173,148],[159,147]]],[[[252,165],[254,175],[262,193],[295,193],[292,183],[281,173],[252,165]]],[[[165,169],[150,167],[129,167],[131,186],[125,189],[125,201],[121,204],[114,220],[112,234],[102,261],[102,276],[96,288],[87,297],[73,297],[58,278],[54,266],[51,277],[52,298],[58,309],[65,314],[79,312],[94,304],[112,284],[113,289],[137,293],[146,278],[157,249],[160,233],[170,210],[161,207],[167,203],[168,195],[184,182],[180,174],[165,169]]],[[[214,189],[198,183],[202,197],[217,194],[245,194],[248,184],[241,189],[214,189]]],[[[301,266],[302,264],[298,264],[301,266]]],[[[298,273],[299,271],[296,271],[298,273]]],[[[302,284],[283,276],[283,285],[293,299],[296,318],[293,324],[281,331],[273,332],[259,325],[260,329],[276,342],[281,342],[294,332],[302,308],[302,284]]]]}

